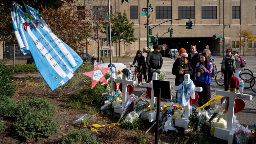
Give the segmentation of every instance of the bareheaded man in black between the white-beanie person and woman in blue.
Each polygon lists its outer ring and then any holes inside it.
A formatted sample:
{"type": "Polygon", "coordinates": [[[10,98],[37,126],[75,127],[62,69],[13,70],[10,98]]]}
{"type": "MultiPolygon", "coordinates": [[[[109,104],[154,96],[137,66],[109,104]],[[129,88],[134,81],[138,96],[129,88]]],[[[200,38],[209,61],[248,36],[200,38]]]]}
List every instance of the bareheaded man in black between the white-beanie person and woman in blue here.
{"type": "MultiPolygon", "coordinates": [[[[190,53],[188,54],[188,61],[190,62],[190,65],[193,69],[193,73],[195,73],[196,65],[199,62],[200,55],[197,52],[197,46],[191,45],[190,47],[190,53]]],[[[195,83],[195,75],[193,74],[190,79],[193,80],[195,83]]]]}

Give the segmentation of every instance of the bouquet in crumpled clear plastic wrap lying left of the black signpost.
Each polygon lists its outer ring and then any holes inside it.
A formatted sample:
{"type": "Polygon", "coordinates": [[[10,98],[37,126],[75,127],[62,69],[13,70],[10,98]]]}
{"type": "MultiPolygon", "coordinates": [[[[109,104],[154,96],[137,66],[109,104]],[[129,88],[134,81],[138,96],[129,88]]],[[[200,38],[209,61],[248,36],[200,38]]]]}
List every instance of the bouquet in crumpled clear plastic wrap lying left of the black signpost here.
{"type": "Polygon", "coordinates": [[[146,100],[144,97],[140,97],[137,101],[134,101],[134,111],[126,115],[124,121],[132,123],[136,120],[139,115],[144,112],[144,109],[149,106],[150,101],[146,100]]]}

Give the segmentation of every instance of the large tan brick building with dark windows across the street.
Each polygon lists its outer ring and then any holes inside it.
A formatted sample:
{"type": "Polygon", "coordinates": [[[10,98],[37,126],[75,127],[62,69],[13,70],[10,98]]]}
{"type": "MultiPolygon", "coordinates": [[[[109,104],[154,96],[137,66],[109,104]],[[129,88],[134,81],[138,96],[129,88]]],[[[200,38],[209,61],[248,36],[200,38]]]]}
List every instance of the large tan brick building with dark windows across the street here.
{"type": "MultiPolygon", "coordinates": [[[[80,5],[85,4],[85,8],[90,9],[88,1],[84,0],[77,2],[80,5]]],[[[107,1],[92,0],[92,7],[97,10],[97,6],[105,6],[107,12],[107,1]]],[[[164,21],[173,20],[159,25],[154,28],[153,34],[158,33],[159,45],[166,44],[166,48],[185,48],[190,51],[190,45],[197,45],[198,52],[203,51],[206,45],[209,45],[212,54],[217,56],[222,53],[223,40],[222,38],[213,40],[212,35],[219,36],[225,34],[225,49],[233,48],[243,54],[243,47],[236,44],[241,40],[239,37],[240,30],[248,30],[256,36],[256,1],[255,0],[149,0],[151,8],[154,9],[150,12],[150,27],[154,27],[164,21]],[[193,21],[193,29],[186,29],[186,20],[175,20],[182,18],[191,18],[193,21]],[[224,28],[224,25],[225,26],[224,28]],[[230,27],[229,27],[230,25],[230,27]],[[170,37],[168,28],[173,28],[173,36],[170,37]]],[[[142,50],[147,45],[147,35],[145,23],[146,16],[139,16],[143,13],[142,8],[147,7],[146,0],[129,0],[129,3],[121,0],[111,0],[111,11],[116,13],[118,11],[127,13],[130,22],[134,22],[135,37],[137,41],[132,44],[120,44],[121,55],[134,55],[137,50],[142,50]],[[125,50],[125,51],[124,51],[125,50]]],[[[102,9],[101,9],[102,10],[102,9]]],[[[100,34],[100,48],[102,48],[102,55],[109,55],[109,47],[103,40],[104,34],[100,34]]],[[[154,44],[154,43],[153,43],[154,44]]],[[[118,44],[113,43],[113,55],[118,54],[118,44]]],[[[152,47],[152,46],[150,46],[152,47]]],[[[96,43],[97,48],[97,43],[96,43]]],[[[97,49],[96,49],[97,50],[97,49]]],[[[256,41],[246,42],[245,55],[253,55],[256,50],[256,41]]],[[[88,53],[94,54],[94,43],[88,48],[88,53]]]]}

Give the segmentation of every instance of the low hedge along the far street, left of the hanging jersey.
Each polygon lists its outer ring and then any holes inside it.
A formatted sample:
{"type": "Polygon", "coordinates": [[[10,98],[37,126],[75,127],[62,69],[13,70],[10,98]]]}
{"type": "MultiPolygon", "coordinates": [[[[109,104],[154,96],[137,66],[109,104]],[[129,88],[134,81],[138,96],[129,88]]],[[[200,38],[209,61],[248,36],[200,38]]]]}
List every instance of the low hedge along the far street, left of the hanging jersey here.
{"type": "MultiPolygon", "coordinates": [[[[9,68],[13,68],[12,65],[8,66],[9,68]]],[[[35,65],[33,64],[28,64],[28,65],[15,65],[16,69],[14,71],[15,74],[23,74],[23,73],[37,73],[37,69],[35,67],[35,65]]]]}

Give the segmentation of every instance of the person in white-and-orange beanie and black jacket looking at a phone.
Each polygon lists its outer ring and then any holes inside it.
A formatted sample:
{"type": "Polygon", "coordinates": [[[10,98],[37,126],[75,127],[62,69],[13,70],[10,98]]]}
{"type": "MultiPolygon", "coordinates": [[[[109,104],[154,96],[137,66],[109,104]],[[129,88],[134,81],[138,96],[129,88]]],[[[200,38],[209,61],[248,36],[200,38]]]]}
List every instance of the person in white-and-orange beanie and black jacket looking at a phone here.
{"type": "MultiPolygon", "coordinates": [[[[193,69],[190,66],[188,60],[188,54],[186,51],[181,53],[181,57],[177,58],[173,63],[172,74],[175,75],[175,86],[180,85],[184,81],[184,75],[189,74],[193,75],[193,69]]],[[[176,93],[177,99],[177,93],[176,93]]]]}

